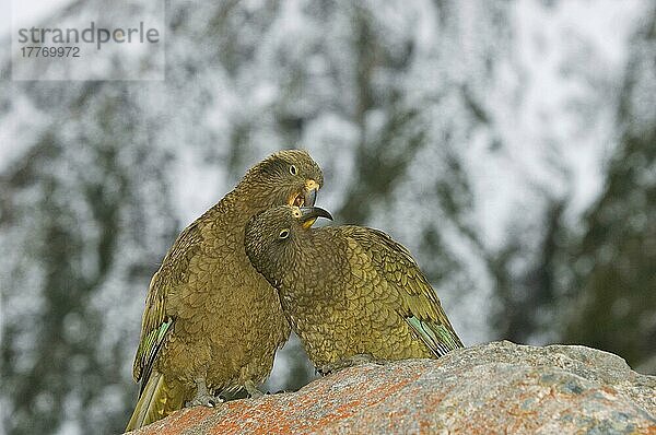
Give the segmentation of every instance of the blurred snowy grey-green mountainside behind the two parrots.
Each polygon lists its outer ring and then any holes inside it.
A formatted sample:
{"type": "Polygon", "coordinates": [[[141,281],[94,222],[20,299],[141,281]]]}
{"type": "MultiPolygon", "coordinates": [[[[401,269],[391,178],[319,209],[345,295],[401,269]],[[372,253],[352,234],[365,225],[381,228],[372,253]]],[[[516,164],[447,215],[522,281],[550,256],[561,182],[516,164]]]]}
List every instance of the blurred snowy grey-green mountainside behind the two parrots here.
{"type": "MultiPolygon", "coordinates": [[[[171,1],[165,34],[165,81],[12,81],[0,51],[0,431],[122,431],[150,277],[282,148],[324,168],[337,222],[408,246],[466,344],[656,373],[652,1],[171,1]]],[[[312,376],[292,340],[267,388],[312,376]]]]}

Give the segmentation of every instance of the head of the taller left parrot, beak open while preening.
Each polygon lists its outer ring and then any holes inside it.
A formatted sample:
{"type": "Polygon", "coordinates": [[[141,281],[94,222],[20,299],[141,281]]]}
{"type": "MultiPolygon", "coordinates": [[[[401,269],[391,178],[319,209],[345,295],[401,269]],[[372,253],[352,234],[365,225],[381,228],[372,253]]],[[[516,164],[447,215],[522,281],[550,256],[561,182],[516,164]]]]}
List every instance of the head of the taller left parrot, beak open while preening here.
{"type": "Polygon", "coordinates": [[[319,165],[304,150],[283,150],[251,167],[238,189],[257,210],[277,205],[314,205],[324,184],[319,165]]]}

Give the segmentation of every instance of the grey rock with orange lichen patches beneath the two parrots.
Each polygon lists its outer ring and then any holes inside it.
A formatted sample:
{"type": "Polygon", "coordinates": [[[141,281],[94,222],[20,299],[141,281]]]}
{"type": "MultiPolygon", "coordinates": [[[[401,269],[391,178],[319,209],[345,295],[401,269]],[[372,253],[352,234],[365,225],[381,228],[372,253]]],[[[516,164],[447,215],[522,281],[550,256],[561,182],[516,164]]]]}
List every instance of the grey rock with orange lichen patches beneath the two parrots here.
{"type": "Polygon", "coordinates": [[[656,434],[656,377],[581,345],[507,341],[365,364],[297,392],[178,411],[134,434],[656,434]]]}

